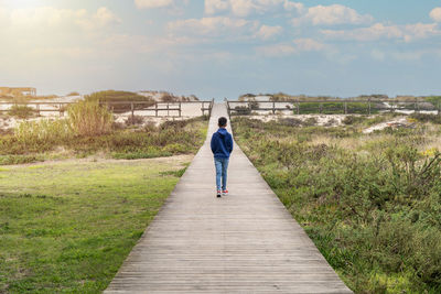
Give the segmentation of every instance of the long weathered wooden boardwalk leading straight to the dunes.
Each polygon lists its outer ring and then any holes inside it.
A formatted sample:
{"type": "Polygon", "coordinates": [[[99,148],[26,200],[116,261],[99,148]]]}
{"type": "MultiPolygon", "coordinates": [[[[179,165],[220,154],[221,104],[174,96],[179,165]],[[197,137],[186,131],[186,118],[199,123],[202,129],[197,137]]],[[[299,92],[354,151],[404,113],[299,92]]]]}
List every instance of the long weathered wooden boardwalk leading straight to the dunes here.
{"type": "Polygon", "coordinates": [[[133,248],[111,293],[352,293],[235,145],[230,195],[215,197],[209,139],[133,248]]]}

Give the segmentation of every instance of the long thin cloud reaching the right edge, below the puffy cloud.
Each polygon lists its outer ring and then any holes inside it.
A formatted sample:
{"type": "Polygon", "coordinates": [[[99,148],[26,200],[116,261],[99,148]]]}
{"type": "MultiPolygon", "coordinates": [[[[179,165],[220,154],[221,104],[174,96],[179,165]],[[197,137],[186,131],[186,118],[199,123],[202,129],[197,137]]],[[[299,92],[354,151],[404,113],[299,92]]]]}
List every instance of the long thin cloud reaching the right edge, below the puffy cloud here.
{"type": "Polygon", "coordinates": [[[407,24],[407,25],[385,25],[376,23],[369,28],[361,28],[354,30],[322,30],[325,36],[336,40],[355,40],[355,41],[377,41],[380,39],[402,40],[411,42],[418,39],[426,39],[431,35],[438,35],[441,31],[437,24],[407,24]]]}

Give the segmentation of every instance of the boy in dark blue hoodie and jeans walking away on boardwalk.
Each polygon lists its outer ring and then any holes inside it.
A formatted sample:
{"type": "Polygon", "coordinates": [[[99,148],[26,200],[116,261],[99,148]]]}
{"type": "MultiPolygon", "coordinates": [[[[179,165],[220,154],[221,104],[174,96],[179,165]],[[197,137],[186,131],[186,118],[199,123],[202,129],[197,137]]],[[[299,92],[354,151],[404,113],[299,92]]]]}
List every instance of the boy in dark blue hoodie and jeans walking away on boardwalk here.
{"type": "Polygon", "coordinates": [[[214,155],[214,165],[216,168],[216,196],[227,195],[227,168],[229,155],[233,151],[233,137],[226,130],[227,119],[222,117],[217,126],[219,129],[212,135],[212,152],[214,155]],[[220,185],[222,179],[222,185],[220,185]]]}

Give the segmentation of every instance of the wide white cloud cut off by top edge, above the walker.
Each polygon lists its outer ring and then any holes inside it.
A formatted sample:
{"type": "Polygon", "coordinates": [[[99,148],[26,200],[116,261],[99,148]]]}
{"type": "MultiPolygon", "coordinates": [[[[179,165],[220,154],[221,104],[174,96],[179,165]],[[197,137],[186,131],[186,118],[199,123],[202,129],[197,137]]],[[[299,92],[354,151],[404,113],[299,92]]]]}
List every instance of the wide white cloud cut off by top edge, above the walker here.
{"type": "Polygon", "coordinates": [[[263,14],[271,11],[299,11],[302,3],[289,0],[205,0],[205,13],[217,14],[229,11],[236,17],[263,14]]]}

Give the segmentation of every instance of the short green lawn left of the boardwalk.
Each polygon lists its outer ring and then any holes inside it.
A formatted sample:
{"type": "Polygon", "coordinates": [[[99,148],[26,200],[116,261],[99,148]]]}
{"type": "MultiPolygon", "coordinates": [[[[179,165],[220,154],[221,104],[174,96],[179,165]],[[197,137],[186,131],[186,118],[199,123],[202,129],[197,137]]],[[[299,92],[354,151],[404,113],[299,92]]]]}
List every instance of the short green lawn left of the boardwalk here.
{"type": "Polygon", "coordinates": [[[0,167],[0,293],[105,290],[189,160],[0,167]]]}

